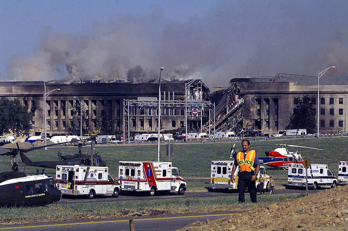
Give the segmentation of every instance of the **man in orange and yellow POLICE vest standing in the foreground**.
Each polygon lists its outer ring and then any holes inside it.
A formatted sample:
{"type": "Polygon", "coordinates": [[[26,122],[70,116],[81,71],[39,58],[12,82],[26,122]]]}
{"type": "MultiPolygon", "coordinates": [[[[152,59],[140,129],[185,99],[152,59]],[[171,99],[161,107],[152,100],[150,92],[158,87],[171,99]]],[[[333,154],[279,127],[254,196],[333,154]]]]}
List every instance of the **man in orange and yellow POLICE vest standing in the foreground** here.
{"type": "MultiPolygon", "coordinates": [[[[237,166],[238,171],[238,183],[237,189],[239,192],[238,202],[244,203],[245,188],[248,188],[250,194],[250,200],[256,203],[256,184],[255,181],[258,178],[260,170],[260,161],[256,155],[255,150],[250,150],[250,141],[242,141],[242,151],[238,152],[235,158],[235,162],[232,167],[232,173],[235,172],[237,166]]],[[[235,180],[233,174],[231,174],[231,182],[235,180]]]]}

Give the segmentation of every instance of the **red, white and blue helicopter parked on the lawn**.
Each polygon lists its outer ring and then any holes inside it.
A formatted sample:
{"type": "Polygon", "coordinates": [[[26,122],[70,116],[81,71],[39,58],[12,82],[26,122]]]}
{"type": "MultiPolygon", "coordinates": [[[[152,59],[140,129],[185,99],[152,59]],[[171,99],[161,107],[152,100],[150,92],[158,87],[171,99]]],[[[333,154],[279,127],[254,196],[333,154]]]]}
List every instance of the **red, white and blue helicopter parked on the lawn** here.
{"type": "Polygon", "coordinates": [[[291,144],[269,144],[269,145],[260,145],[254,146],[253,148],[262,147],[262,146],[279,146],[274,151],[266,151],[266,157],[259,157],[260,164],[267,165],[273,168],[281,168],[286,170],[289,164],[301,164],[303,162],[302,156],[298,151],[291,152],[288,151],[285,147],[299,147],[315,150],[323,150],[305,146],[291,145],[291,144]]]}

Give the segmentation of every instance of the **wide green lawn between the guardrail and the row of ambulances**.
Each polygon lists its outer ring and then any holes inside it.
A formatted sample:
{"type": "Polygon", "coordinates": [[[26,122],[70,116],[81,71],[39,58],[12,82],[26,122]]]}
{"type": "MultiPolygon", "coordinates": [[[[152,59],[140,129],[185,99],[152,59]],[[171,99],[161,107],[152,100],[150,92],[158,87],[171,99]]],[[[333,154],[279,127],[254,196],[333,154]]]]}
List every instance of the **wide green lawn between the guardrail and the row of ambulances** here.
{"type": "MultiPolygon", "coordinates": [[[[267,144],[292,144],[300,146],[309,146],[313,148],[324,149],[323,151],[288,147],[290,151],[299,151],[302,157],[307,157],[312,164],[328,164],[329,168],[337,174],[338,161],[347,160],[348,138],[320,138],[320,139],[296,139],[284,140],[282,142],[275,141],[251,141],[251,149],[256,145],[267,144]]],[[[210,161],[211,160],[230,160],[231,142],[220,143],[179,143],[174,144],[174,156],[171,157],[173,166],[180,168],[180,175],[184,178],[210,177],[210,161]]],[[[241,144],[236,144],[237,150],[241,144]]],[[[161,145],[161,161],[168,161],[166,156],[166,145],[161,145]]],[[[264,157],[265,151],[274,150],[275,146],[263,146],[256,148],[259,157],[264,157]]],[[[27,156],[32,160],[57,160],[57,151],[59,148],[45,150],[37,150],[28,152],[27,156]]],[[[60,148],[63,155],[76,153],[77,148],[60,148]]],[[[118,161],[157,161],[157,145],[105,145],[95,148],[103,160],[109,166],[109,172],[113,177],[118,177],[118,161]]],[[[84,153],[90,153],[90,147],[84,147],[84,153]]],[[[1,157],[0,172],[10,171],[11,163],[9,157],[1,157]]],[[[23,170],[22,162],[20,167],[23,170]],[[22,165],[22,166],[21,166],[22,165]]],[[[34,174],[36,167],[26,167],[25,172],[34,174]]],[[[40,169],[41,170],[41,169],[40,169]]],[[[46,174],[55,176],[54,169],[46,169],[46,174]]],[[[286,178],[287,171],[282,169],[268,168],[268,174],[274,177],[286,178]]],[[[204,187],[204,185],[201,185],[204,187]]],[[[199,186],[198,186],[199,187],[199,186]]]]}

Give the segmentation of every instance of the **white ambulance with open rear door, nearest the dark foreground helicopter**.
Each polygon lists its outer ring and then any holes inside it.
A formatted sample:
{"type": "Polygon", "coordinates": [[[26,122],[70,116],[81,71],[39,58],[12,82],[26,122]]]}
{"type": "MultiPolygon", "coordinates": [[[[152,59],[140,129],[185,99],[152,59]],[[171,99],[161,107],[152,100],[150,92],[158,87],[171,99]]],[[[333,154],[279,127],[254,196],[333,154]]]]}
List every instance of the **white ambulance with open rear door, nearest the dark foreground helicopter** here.
{"type": "Polygon", "coordinates": [[[90,199],[105,194],[118,197],[119,183],[108,171],[108,167],[57,165],[56,185],[66,195],[86,195],[90,199]]]}

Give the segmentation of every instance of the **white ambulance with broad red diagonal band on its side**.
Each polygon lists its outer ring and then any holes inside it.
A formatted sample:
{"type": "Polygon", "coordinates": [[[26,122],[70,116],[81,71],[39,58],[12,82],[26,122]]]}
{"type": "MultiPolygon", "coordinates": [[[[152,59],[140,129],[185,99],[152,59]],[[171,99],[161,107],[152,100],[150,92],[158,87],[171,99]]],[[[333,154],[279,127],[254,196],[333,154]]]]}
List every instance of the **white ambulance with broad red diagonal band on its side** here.
{"type": "Polygon", "coordinates": [[[179,195],[186,191],[186,182],[172,162],[119,161],[118,169],[118,182],[124,191],[149,192],[150,196],[156,191],[179,195]]]}

